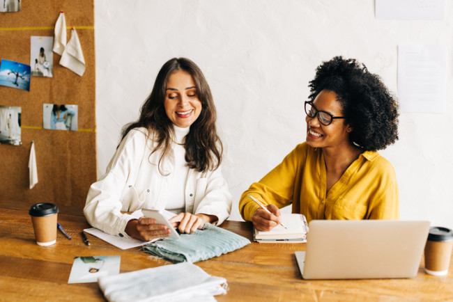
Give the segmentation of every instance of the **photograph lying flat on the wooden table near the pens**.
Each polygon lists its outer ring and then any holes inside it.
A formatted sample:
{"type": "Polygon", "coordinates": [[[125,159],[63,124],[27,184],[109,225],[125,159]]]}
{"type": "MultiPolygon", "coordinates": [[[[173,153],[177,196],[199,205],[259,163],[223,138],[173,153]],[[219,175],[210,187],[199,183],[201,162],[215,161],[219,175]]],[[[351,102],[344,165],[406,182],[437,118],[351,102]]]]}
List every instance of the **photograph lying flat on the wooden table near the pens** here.
{"type": "Polygon", "coordinates": [[[121,256],[75,257],[68,283],[98,282],[102,276],[120,273],[121,256]]]}

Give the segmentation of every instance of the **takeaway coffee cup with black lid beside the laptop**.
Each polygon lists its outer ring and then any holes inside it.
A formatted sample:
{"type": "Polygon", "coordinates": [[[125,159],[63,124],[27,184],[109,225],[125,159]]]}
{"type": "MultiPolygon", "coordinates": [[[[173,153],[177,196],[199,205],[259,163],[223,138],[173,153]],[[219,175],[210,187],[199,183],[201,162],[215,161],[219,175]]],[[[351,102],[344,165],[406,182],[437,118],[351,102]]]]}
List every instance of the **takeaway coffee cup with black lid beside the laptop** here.
{"type": "Polygon", "coordinates": [[[424,247],[424,270],[434,276],[448,273],[452,257],[453,232],[448,228],[431,227],[424,247]]]}

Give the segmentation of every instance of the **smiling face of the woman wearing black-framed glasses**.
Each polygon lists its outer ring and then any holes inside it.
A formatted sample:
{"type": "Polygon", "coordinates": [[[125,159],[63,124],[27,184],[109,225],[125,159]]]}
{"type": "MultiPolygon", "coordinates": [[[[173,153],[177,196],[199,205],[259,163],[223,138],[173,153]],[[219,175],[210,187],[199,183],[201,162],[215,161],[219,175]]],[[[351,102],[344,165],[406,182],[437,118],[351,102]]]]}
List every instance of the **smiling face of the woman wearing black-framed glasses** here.
{"type": "MultiPolygon", "coordinates": [[[[316,109],[326,111],[332,116],[343,116],[341,104],[337,101],[337,94],[331,90],[321,90],[313,102],[316,109]]],[[[318,120],[318,115],[314,118],[307,116],[307,144],[313,148],[338,148],[341,145],[351,145],[349,132],[352,128],[345,125],[344,119],[334,119],[332,124],[325,126],[318,120]]]]}

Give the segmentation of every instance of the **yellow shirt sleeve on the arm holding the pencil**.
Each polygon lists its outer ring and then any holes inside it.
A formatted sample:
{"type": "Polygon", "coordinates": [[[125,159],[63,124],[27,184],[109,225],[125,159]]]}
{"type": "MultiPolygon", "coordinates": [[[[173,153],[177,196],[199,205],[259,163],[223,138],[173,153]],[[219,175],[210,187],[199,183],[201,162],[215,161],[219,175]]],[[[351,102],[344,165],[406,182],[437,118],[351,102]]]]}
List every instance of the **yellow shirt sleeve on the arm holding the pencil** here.
{"type": "Polygon", "coordinates": [[[259,205],[256,204],[247,194],[260,200],[263,205],[273,203],[282,208],[291,205],[293,200],[295,175],[300,167],[302,144],[298,145],[283,159],[282,163],[273,168],[259,182],[254,182],[242,196],[239,201],[240,215],[246,221],[252,221],[252,216],[259,205]]]}

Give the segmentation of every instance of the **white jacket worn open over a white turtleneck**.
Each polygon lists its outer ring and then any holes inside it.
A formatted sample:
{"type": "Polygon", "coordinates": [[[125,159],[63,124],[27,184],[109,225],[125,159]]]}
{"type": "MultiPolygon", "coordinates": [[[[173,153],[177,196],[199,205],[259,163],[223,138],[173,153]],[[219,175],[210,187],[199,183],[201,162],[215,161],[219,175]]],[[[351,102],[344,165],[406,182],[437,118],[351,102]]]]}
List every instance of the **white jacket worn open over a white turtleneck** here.
{"type": "MultiPolygon", "coordinates": [[[[158,170],[160,150],[151,154],[155,142],[147,138],[146,128],[132,129],[121,141],[107,166],[107,173],[91,185],[84,214],[95,228],[108,234],[129,237],[125,226],[137,209],[165,209],[174,170],[174,153],[158,170]],[[167,175],[168,174],[168,175],[167,175]]],[[[151,134],[152,136],[152,134],[151,134]]],[[[185,184],[185,212],[209,214],[217,224],[231,212],[231,193],[221,168],[204,173],[189,169],[185,184]]]]}

